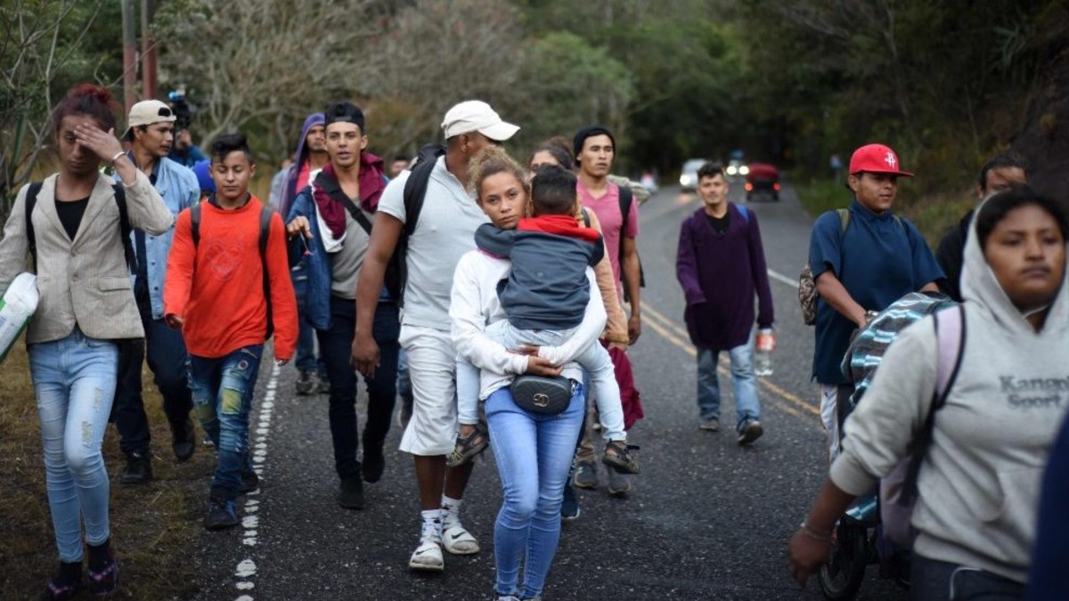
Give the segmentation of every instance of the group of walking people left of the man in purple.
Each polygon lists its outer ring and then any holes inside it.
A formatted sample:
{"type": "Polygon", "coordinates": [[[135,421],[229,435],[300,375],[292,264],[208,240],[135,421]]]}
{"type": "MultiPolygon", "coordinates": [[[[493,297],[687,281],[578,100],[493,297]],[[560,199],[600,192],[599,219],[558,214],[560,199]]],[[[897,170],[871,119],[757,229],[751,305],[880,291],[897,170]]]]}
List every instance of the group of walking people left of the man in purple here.
{"type": "MultiPolygon", "coordinates": [[[[60,171],[19,191],[0,241],[0,290],[32,253],[41,291],[27,343],[60,555],[43,598],[119,586],[102,443],[114,404],[121,481],[151,481],[145,356],[175,459],[197,448],[190,411],[217,453],[204,526],[238,523],[236,498],[259,486],[248,421],[265,345],[274,339],[284,365],[300,322],[324,364],[316,383],[329,391],[339,505],[359,509],[363,482],[383,476],[403,350],[413,406],[401,449],[415,458],[421,507],[409,567],[438,571],[443,552],[479,552],[460,509],[471,459],[491,447],[506,493],[495,590],[539,598],[588,413],[606,441],[610,492],[630,492],[639,471],[625,433],[641,416],[637,390],[615,368],[640,332],[638,202],[618,209],[611,134],[589,127],[578,138],[577,158],[593,175],[547,166],[531,178],[500,148],[518,127],[468,101],[446,113],[445,144],[390,180],[366,150],[362,111],[339,102],[306,123],[301,140],[321,127],[327,160],[295,164],[276,211],[249,192],[257,166],[243,135],[219,136],[207,165],[189,170],[167,158],[174,113],[166,104],[136,104],[122,141],[115,110],[104,89],[67,93],[53,124],[60,171]],[[584,192],[602,206],[580,211],[584,192]],[[546,265],[559,267],[547,277],[546,265]],[[357,373],[369,389],[362,441],[357,373]],[[521,374],[541,377],[529,381],[534,404],[512,394],[521,374]],[[622,402],[621,388],[633,401],[622,402]],[[561,406],[539,404],[558,390],[561,406]]],[[[555,150],[573,159],[564,144],[555,150]]],[[[586,474],[597,487],[592,461],[586,474]]],[[[577,517],[577,506],[564,513],[577,517]]]]}

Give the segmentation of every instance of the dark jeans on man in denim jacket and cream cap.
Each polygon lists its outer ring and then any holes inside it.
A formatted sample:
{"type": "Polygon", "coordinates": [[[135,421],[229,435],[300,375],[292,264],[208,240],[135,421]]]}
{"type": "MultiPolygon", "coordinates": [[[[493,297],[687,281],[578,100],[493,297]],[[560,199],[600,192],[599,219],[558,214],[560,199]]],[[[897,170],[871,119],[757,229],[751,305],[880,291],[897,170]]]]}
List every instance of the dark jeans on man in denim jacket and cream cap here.
{"type": "MultiPolygon", "coordinates": [[[[148,299],[145,299],[148,300],[148,299]]],[[[152,309],[138,304],[144,339],[121,340],[119,343],[119,376],[115,386],[114,421],[119,431],[119,448],[124,453],[146,451],[152,435],[144,414],[141,397],[141,365],[145,349],[149,369],[156,387],[164,398],[164,413],[172,431],[184,431],[189,412],[193,409],[192,396],[187,384],[189,354],[182,333],[169,327],[164,320],[152,319],[152,309]]]]}

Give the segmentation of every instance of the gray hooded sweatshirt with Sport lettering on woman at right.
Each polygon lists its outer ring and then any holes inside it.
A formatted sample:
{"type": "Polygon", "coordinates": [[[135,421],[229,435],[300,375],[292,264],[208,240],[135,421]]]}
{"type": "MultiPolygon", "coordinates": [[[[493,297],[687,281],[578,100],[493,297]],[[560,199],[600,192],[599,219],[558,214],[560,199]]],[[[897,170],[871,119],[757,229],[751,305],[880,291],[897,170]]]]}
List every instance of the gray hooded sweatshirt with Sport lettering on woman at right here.
{"type": "MultiPolygon", "coordinates": [[[[982,206],[980,212],[982,212],[982,206]]],[[[914,551],[1024,583],[1047,454],[1069,406],[1069,296],[1063,279],[1041,332],[995,280],[976,238],[962,271],[965,344],[917,480],[914,551]]],[[[933,318],[902,332],[845,426],[831,478],[870,492],[907,456],[931,406],[933,318]]]]}

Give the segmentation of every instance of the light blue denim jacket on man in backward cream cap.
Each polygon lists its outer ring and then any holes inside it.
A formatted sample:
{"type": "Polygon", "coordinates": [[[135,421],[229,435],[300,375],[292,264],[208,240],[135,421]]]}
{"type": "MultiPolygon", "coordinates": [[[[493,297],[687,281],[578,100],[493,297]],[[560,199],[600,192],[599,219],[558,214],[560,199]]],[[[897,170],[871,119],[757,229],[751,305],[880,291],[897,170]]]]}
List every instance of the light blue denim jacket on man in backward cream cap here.
{"type": "MultiPolygon", "coordinates": [[[[133,155],[129,155],[133,160],[133,155]]],[[[164,157],[156,161],[152,169],[153,187],[164,198],[164,203],[171,213],[179,216],[182,211],[197,204],[200,200],[200,183],[197,175],[188,167],[164,157]]],[[[115,181],[120,181],[115,173],[115,181]]],[[[149,274],[149,298],[152,300],[152,319],[164,319],[164,279],[167,276],[167,255],[171,251],[171,241],[174,238],[174,226],[158,236],[144,234],[144,261],[149,274]]],[[[130,232],[130,242],[137,249],[137,232],[130,232]]]]}

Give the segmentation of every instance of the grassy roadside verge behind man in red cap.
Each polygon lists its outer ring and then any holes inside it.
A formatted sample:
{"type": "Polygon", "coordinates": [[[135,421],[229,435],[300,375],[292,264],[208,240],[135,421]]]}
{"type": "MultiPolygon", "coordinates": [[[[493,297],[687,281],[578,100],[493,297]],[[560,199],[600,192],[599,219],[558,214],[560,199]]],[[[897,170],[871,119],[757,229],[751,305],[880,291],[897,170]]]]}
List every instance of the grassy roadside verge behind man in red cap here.
{"type": "MultiPolygon", "coordinates": [[[[852,199],[850,190],[842,184],[836,185],[832,180],[797,179],[792,181],[791,185],[802,206],[814,217],[825,211],[848,206],[852,199]]],[[[913,221],[932,250],[939,245],[946,230],[957,224],[976,202],[976,198],[969,194],[930,196],[912,202],[911,200],[903,199],[899,189],[895,212],[913,221]]]]}

